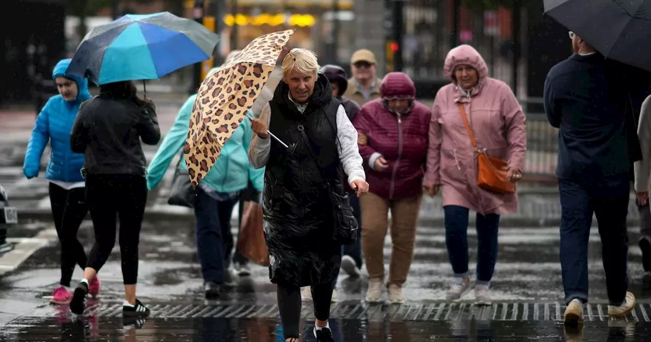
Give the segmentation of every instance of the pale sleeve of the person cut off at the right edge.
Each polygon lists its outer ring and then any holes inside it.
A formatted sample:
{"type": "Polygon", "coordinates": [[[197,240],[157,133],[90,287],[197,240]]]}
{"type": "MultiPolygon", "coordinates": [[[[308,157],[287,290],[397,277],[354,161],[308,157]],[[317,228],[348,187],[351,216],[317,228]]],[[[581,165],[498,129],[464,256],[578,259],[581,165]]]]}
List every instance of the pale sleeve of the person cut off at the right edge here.
{"type": "Polygon", "coordinates": [[[651,176],[651,96],[642,103],[640,120],[637,124],[637,137],[642,149],[642,160],[634,164],[635,192],[649,191],[649,177],[651,176]]]}

